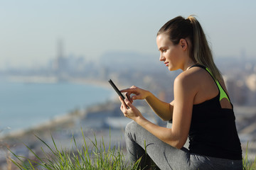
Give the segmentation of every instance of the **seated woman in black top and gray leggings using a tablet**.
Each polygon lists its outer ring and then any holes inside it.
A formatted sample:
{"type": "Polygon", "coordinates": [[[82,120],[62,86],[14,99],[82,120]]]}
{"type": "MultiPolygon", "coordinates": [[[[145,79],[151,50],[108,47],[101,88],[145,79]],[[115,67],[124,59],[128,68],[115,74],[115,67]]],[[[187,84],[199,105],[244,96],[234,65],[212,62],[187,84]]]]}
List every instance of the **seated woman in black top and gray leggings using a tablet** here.
{"type": "Polygon", "coordinates": [[[131,118],[125,140],[132,162],[141,159],[151,169],[242,169],[242,149],[235,127],[233,105],[200,23],[193,16],[178,16],[157,33],[160,61],[170,71],[182,69],[174,81],[174,101],[165,103],[151,92],[132,86],[121,111],[131,118]],[[171,128],[149,122],[132,105],[145,99],[171,128]],[[127,108],[127,106],[129,108],[127,108]],[[189,150],[183,147],[189,138],[189,150]]]}

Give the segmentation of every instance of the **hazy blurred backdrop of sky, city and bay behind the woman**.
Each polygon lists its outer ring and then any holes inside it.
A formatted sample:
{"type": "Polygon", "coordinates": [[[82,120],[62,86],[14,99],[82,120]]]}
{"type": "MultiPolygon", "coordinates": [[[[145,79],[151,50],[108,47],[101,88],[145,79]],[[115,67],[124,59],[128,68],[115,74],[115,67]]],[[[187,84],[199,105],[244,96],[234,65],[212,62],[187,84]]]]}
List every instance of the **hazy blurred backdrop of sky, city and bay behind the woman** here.
{"type": "MultiPolygon", "coordinates": [[[[0,149],[27,153],[17,139],[37,148],[27,135],[49,137],[46,129],[69,141],[80,127],[99,135],[112,128],[120,139],[129,120],[107,80],[171,101],[181,71],[169,72],[159,62],[156,33],[171,18],[194,14],[225,77],[243,149],[249,142],[255,157],[255,6],[252,0],[0,0],[0,149]]],[[[136,104],[165,125],[145,103],[136,104]]],[[[0,150],[0,164],[5,155],[0,150]]]]}

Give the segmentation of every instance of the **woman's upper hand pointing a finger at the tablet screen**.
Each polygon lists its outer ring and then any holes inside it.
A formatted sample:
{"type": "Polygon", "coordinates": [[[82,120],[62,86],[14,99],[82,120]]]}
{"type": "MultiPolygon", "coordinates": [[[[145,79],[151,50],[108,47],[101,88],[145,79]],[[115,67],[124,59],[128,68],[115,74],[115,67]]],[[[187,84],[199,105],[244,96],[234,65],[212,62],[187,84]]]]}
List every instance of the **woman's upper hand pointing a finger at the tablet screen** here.
{"type": "Polygon", "coordinates": [[[147,96],[150,95],[149,91],[146,91],[144,89],[140,89],[137,86],[132,86],[129,89],[124,89],[121,90],[121,93],[125,92],[125,96],[127,97],[127,99],[132,103],[134,100],[143,100],[145,99],[147,96]],[[133,94],[133,95],[132,95],[133,94]],[[132,95],[132,96],[131,96],[132,95]]]}

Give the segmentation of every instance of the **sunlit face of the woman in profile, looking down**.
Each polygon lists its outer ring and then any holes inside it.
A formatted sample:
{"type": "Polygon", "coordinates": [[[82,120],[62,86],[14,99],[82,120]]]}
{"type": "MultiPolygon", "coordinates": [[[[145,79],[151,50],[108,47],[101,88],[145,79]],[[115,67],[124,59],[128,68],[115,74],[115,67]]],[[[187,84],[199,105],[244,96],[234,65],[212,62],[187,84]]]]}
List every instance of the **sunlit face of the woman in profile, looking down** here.
{"type": "Polygon", "coordinates": [[[160,52],[159,60],[164,62],[170,71],[183,67],[182,48],[180,44],[174,45],[167,35],[160,34],[156,37],[156,45],[160,52]]]}

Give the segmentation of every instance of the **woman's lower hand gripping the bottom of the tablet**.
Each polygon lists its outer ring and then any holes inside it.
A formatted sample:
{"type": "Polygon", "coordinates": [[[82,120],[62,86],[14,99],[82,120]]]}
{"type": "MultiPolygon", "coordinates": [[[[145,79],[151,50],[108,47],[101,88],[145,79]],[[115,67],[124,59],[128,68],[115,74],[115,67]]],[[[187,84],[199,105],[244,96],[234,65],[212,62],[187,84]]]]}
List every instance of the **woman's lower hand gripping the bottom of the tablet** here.
{"type": "Polygon", "coordinates": [[[123,101],[122,98],[119,97],[119,100],[121,101],[120,110],[122,113],[124,113],[125,117],[134,121],[136,121],[137,118],[142,117],[142,113],[140,113],[140,111],[135,106],[133,106],[127,98],[125,98],[123,101]],[[129,106],[129,108],[127,108],[127,106],[129,106]]]}

